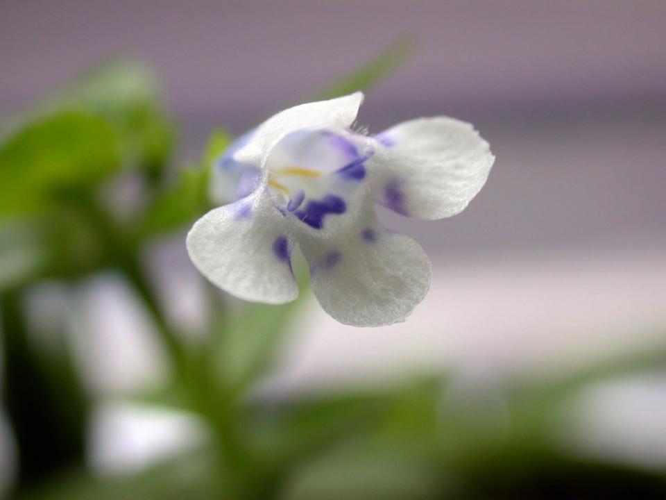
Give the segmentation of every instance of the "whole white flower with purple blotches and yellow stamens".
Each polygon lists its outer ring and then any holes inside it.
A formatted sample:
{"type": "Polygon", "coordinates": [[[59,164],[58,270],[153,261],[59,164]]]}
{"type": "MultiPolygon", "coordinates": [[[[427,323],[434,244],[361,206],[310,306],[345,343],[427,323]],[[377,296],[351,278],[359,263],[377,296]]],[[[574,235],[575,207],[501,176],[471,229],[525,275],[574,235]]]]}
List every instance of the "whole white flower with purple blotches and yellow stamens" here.
{"type": "Polygon", "coordinates": [[[298,245],[314,294],[339,322],[402,322],[422,301],[430,261],[418,243],[377,223],[375,203],[418,219],[456,215],[495,158],[470,124],[447,117],[357,133],[361,101],[356,92],[284,110],[220,158],[216,185],[234,179],[237,201],[187,235],[192,262],[212,283],[249,301],[293,301],[298,245]]]}

